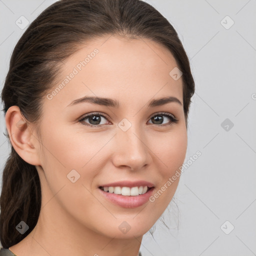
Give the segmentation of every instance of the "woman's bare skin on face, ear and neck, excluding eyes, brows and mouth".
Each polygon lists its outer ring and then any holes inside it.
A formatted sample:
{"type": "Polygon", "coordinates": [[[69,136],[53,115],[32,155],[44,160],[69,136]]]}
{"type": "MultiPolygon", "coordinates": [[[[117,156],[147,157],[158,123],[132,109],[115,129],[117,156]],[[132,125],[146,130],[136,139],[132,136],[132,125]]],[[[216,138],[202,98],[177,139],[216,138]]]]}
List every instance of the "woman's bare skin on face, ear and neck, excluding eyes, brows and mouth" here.
{"type": "Polygon", "coordinates": [[[18,256],[136,256],[142,235],[176,190],[179,178],[154,202],[136,208],[118,206],[101,195],[100,184],[120,180],[150,181],[154,191],[159,190],[184,161],[187,132],[182,105],[146,106],[164,96],[174,96],[183,104],[182,77],[174,80],[169,75],[177,63],[168,49],[145,38],[97,38],[64,61],[58,81],[94,48],[99,50],[95,57],[52,99],[43,99],[41,140],[34,124],[25,119],[22,123],[17,106],[6,113],[11,143],[26,162],[36,166],[42,189],[36,226],[9,248],[18,256]],[[120,106],[88,102],[67,106],[85,95],[116,99],[120,106]],[[91,124],[88,118],[78,121],[95,111],[108,117],[100,117],[102,126],[84,125],[91,124]],[[162,124],[151,119],[161,111],[173,114],[178,122],[164,126],[171,122],[167,116],[162,124]],[[125,132],[118,126],[123,118],[131,123],[125,132]],[[67,178],[72,169],[80,175],[74,183],[67,178]],[[118,228],[122,221],[131,227],[126,233],[118,228]]]}

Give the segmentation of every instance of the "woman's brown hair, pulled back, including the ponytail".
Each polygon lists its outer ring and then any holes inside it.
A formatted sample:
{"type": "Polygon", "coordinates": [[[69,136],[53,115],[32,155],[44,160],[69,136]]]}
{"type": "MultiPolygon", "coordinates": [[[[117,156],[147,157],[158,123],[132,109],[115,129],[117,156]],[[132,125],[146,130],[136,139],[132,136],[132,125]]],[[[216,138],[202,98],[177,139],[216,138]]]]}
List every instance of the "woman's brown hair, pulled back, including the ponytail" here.
{"type": "MultiPolygon", "coordinates": [[[[10,106],[17,105],[27,121],[39,123],[42,99],[53,86],[61,61],[86,41],[107,34],[149,38],[170,50],[182,71],[187,126],[194,93],[187,55],[168,20],[141,0],[59,0],[42,11],[13,49],[1,93],[4,114],[10,106]]],[[[0,242],[4,248],[18,243],[34,228],[40,207],[37,170],[11,145],[0,196],[0,242]],[[29,226],[24,234],[15,228],[21,220],[29,226]]]]}

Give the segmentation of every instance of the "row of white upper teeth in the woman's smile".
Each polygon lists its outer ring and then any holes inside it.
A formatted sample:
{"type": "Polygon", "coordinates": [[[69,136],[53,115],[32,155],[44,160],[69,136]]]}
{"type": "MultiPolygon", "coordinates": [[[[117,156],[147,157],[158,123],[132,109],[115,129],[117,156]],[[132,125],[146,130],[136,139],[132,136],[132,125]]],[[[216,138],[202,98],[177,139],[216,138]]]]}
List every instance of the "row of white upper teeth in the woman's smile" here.
{"type": "Polygon", "coordinates": [[[136,196],[139,194],[144,194],[147,191],[147,186],[133,186],[133,187],[127,187],[127,186],[104,186],[101,188],[105,192],[109,193],[115,193],[115,194],[121,194],[121,195],[126,195],[126,196],[136,196]]]}

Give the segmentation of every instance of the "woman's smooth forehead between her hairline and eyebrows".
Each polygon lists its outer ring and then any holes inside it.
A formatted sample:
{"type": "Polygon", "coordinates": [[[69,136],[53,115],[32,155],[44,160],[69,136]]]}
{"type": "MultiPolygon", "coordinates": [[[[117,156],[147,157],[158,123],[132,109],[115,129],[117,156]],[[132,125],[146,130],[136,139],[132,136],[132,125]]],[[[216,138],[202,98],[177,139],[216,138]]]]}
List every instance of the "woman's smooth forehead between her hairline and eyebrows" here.
{"type": "Polygon", "coordinates": [[[48,103],[63,107],[84,95],[120,102],[171,95],[182,102],[182,77],[174,80],[169,75],[176,66],[167,48],[147,38],[108,35],[93,39],[63,61],[52,90],[60,89],[48,103]]]}

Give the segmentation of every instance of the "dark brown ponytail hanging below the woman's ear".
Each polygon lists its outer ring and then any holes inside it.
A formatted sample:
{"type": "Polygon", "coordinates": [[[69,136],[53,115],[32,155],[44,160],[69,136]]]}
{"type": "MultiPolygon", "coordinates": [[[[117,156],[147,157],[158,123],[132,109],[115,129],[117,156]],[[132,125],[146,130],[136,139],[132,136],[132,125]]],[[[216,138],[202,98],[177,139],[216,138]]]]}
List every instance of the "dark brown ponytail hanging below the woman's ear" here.
{"type": "Polygon", "coordinates": [[[22,240],[36,225],[41,206],[41,187],[34,165],[25,162],[11,146],[2,173],[0,240],[8,248],[22,240]],[[28,225],[21,234],[16,226],[28,225]]]}

